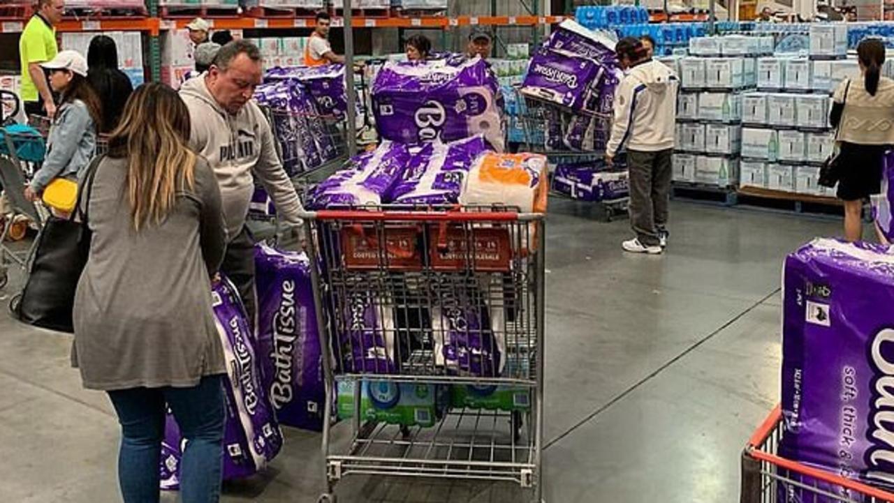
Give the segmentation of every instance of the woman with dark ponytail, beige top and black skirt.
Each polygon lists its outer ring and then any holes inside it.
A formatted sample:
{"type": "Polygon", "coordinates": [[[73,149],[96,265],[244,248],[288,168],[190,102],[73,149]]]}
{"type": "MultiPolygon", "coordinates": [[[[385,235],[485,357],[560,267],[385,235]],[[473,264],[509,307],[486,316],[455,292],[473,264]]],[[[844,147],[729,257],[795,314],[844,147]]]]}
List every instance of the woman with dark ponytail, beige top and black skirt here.
{"type": "Polygon", "coordinates": [[[881,77],[885,46],[866,38],[856,47],[862,79],[844,80],[833,97],[830,122],[838,128],[838,197],[844,201],[848,241],[863,237],[863,204],[881,192],[881,160],[894,145],[894,128],[880,128],[894,117],[894,80],[881,77]]]}

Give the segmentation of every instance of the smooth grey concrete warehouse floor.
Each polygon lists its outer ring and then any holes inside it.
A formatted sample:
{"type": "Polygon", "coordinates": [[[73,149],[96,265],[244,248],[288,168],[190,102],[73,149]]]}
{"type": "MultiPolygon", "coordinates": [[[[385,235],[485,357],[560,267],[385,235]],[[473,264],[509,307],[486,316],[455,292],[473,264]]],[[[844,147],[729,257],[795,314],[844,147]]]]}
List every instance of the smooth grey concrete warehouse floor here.
{"type": "MultiPolygon", "coordinates": [[[[665,256],[621,252],[628,222],[553,200],[546,295],[545,499],[728,503],[739,454],[779,397],[780,269],[840,222],[675,201],[665,256]]],[[[6,314],[0,292],[0,501],[120,501],[119,432],[82,390],[71,337],[6,314]]],[[[5,295],[4,295],[5,294],[5,295]]],[[[314,502],[320,436],[286,429],[270,470],[224,502],[314,502]]],[[[342,502],[527,501],[515,486],[348,477],[342,502]]],[[[164,496],[175,501],[172,494],[164,496]]]]}

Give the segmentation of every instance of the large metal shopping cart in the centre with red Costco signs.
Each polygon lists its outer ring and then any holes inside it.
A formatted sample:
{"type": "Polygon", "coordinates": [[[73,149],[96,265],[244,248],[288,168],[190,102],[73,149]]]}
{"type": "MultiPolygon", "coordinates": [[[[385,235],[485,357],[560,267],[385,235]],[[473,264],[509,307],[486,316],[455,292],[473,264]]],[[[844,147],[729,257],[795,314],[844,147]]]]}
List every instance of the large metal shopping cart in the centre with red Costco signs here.
{"type": "Polygon", "coordinates": [[[333,424],[325,410],[319,500],[370,474],[515,482],[541,502],[544,215],[388,206],[304,218],[326,403],[351,411],[333,424]],[[494,390],[511,399],[472,396],[494,390]],[[405,420],[381,415],[402,397],[428,401],[405,420]]]}

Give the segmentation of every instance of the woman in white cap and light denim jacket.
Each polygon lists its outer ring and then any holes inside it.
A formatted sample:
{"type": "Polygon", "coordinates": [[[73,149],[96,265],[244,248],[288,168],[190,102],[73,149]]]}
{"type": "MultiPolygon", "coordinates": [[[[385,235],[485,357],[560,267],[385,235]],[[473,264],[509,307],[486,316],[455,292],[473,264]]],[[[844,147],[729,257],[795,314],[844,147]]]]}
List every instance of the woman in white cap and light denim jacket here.
{"type": "Polygon", "coordinates": [[[59,93],[60,103],[46,138],[46,159],[25,189],[30,201],[38,201],[55,178],[80,177],[96,150],[102,123],[102,105],[87,81],[84,56],[62,51],[40,66],[49,71],[50,87],[59,93]]]}

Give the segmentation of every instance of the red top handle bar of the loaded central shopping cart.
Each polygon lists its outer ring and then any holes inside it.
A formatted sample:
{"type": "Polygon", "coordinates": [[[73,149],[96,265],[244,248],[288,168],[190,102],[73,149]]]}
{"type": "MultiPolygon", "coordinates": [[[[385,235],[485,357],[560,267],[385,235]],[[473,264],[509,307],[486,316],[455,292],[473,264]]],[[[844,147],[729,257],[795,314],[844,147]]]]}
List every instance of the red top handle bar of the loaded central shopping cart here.
{"type": "Polygon", "coordinates": [[[543,220],[544,214],[519,212],[389,212],[357,210],[320,210],[302,212],[299,216],[307,220],[364,220],[414,221],[414,222],[530,222],[543,220]]]}

